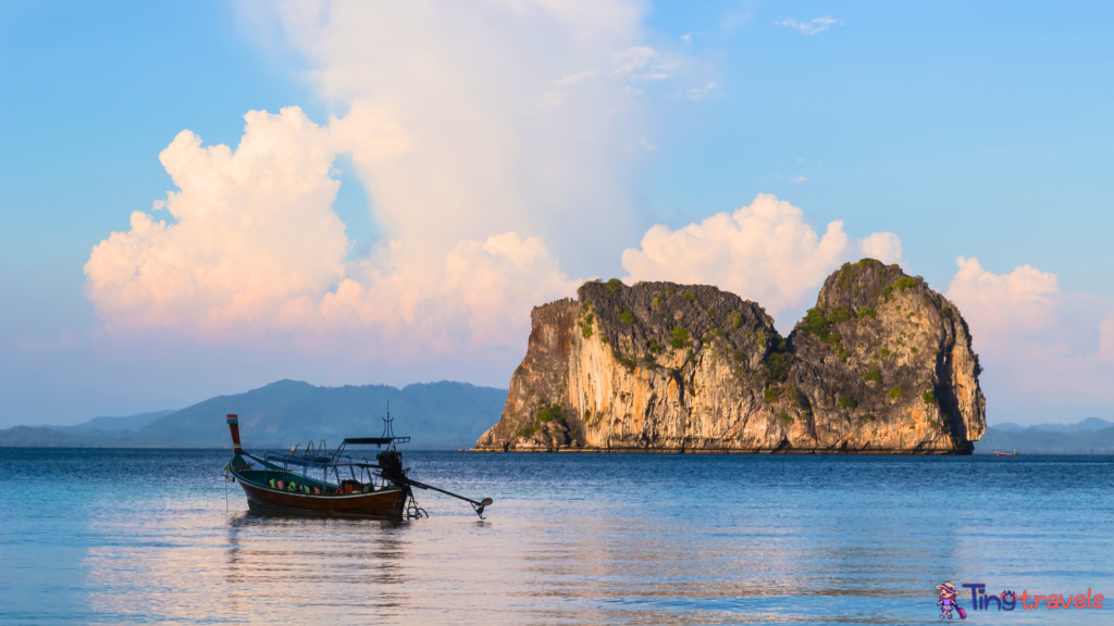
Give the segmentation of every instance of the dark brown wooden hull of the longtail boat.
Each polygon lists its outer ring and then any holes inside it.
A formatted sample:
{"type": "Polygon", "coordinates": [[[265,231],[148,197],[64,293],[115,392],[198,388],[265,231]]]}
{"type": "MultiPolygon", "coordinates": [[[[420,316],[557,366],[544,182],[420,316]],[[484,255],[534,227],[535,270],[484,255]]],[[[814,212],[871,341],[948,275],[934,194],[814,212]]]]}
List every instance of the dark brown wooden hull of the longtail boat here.
{"type": "Polygon", "coordinates": [[[370,493],[317,496],[268,489],[244,480],[236,472],[233,475],[247,496],[247,506],[253,510],[383,519],[401,519],[405,511],[407,491],[401,487],[389,487],[370,493]]]}

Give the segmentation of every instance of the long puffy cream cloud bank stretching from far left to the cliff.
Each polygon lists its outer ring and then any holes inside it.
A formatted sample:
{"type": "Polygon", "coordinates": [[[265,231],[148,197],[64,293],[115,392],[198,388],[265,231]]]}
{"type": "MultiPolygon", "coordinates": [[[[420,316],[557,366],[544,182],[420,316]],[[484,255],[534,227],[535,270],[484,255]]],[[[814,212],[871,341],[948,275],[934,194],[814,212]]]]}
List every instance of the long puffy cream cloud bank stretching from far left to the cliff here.
{"type": "Polygon", "coordinates": [[[136,212],[86,264],[98,316],[215,339],[371,332],[379,345],[437,352],[520,343],[531,306],[575,292],[540,237],[514,232],[458,242],[431,260],[436,281],[398,266],[400,241],[346,261],[335,150],[353,136],[379,146],[365,158],[405,150],[392,126],[353,111],[329,127],[297,108],[252,111],[235,150],[179,134],[160,155],[179,190],[158,204],[175,222],[136,212]]]}

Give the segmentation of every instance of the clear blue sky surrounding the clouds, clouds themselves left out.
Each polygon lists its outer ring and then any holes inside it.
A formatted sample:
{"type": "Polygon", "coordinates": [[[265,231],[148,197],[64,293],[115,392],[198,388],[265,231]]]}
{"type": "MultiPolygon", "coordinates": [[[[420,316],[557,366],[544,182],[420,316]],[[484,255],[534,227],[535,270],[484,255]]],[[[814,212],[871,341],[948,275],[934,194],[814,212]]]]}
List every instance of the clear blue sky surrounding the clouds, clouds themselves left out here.
{"type": "MultiPolygon", "coordinates": [[[[629,203],[600,226],[614,250],[577,254],[599,246],[568,233],[521,233],[545,236],[570,278],[625,275],[622,251],[637,247],[654,224],[681,228],[773,194],[820,233],[836,219],[854,237],[896,233],[907,270],[941,291],[959,256],[976,256],[996,276],[1024,265],[1055,274],[1055,322],[1018,326],[1016,342],[1036,348],[996,349],[1010,344],[1005,335],[988,346],[1003,364],[995,379],[991,356],[984,381],[990,421],[1114,414],[1111,398],[1076,394],[1066,382],[1012,400],[1017,392],[1007,380],[1048,346],[1068,355],[1102,351],[1100,319],[1114,299],[1106,241],[1114,229],[1114,40],[1105,26],[1114,7],[636,8],[629,40],[614,50],[649,47],[673,59],[673,69],[632,100],[637,121],[627,139],[646,148],[607,183],[607,193],[629,203]],[[824,26],[812,22],[824,18],[833,21],[812,35],[786,26],[824,26]],[[687,97],[713,84],[704,97],[687,97]]],[[[394,368],[383,356],[306,352],[289,329],[255,343],[197,342],[175,327],[106,333],[113,320],[97,314],[82,267],[95,245],[128,231],[133,212],[149,212],[175,188],[159,153],[179,131],[205,146],[236,146],[250,110],[297,106],[321,126],[348,115],[351,102],[307,78],[330,61],[292,35],[292,19],[258,4],[199,1],[0,8],[0,427],[176,408],[283,376],[506,384],[514,345],[499,344],[502,356],[481,366],[461,349],[394,368]]],[[[610,55],[606,41],[594,45],[610,55]]],[[[346,226],[348,258],[367,257],[392,236],[375,213],[377,175],[358,172],[349,154],[334,167],[341,185],[332,208],[346,226]]],[[[516,219],[509,223],[530,223],[516,219]]],[[[786,309],[779,325],[805,305],[786,309]]]]}

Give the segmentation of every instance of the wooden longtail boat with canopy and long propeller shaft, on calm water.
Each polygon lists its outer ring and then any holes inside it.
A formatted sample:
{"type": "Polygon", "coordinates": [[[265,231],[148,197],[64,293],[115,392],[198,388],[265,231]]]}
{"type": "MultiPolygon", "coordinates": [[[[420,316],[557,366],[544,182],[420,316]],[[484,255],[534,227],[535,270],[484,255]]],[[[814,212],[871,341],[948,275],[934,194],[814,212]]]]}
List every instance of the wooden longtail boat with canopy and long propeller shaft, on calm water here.
{"type": "Polygon", "coordinates": [[[238,417],[229,414],[227,420],[233,452],[225,471],[244,489],[252,510],[383,519],[428,517],[414,500],[414,487],[465,500],[480,519],[492,503],[491,498],[472,500],[407,476],[410,470],[402,468],[395,444],[410,438],[394,436],[389,410],[381,437],[345,439],[332,453],[322,440],[317,447],[311,441],[301,452],[295,446],[289,453],[253,454],[240,444],[238,417]],[[371,460],[345,454],[350,446],[387,449],[371,460]]]}

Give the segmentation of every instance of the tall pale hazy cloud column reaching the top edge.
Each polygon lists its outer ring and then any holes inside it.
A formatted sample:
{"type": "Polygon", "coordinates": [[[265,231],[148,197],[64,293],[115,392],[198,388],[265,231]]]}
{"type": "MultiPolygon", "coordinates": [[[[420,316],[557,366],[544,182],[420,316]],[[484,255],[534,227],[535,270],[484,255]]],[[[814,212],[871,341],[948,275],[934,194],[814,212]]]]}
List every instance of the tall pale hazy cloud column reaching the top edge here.
{"type": "Polygon", "coordinates": [[[632,229],[635,160],[623,149],[647,135],[639,100],[590,78],[656,56],[638,45],[641,2],[275,10],[306,82],[349,109],[331,123],[339,149],[352,155],[375,225],[401,242],[392,263],[426,291],[461,241],[544,233],[555,255],[585,268],[608,262],[603,244],[632,229]]]}

